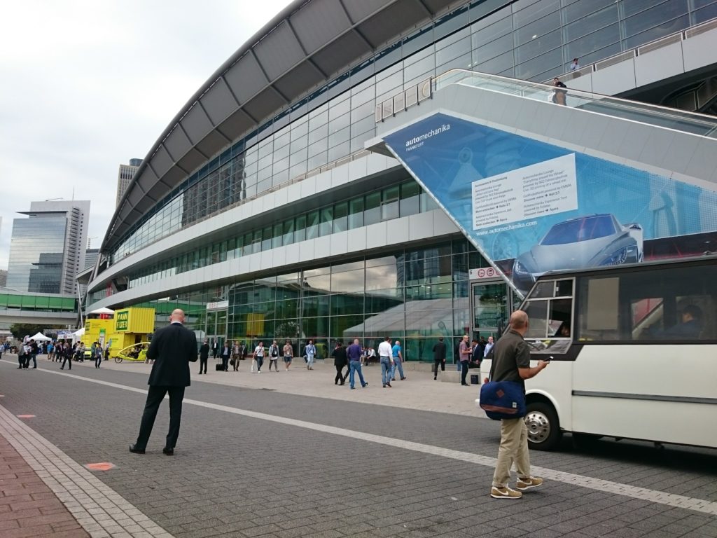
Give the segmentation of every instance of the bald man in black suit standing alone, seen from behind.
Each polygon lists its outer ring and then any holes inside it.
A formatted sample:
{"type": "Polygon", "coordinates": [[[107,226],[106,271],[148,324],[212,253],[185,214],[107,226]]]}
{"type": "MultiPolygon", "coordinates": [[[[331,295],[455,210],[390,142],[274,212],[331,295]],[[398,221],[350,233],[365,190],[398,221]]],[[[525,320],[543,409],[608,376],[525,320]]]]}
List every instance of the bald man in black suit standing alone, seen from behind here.
{"type": "Polygon", "coordinates": [[[196,336],[184,327],[184,311],[179,308],[169,316],[170,325],[154,333],[147,350],[147,358],[154,361],[149,374],[149,390],[144,406],[142,423],[137,442],[130,445],[130,452],[143,454],[152,433],[154,419],[164,395],[169,393],[169,433],[162,452],[174,455],[174,445],[179,437],[181,402],[184,388],[189,387],[189,362],[196,362],[196,336]]]}

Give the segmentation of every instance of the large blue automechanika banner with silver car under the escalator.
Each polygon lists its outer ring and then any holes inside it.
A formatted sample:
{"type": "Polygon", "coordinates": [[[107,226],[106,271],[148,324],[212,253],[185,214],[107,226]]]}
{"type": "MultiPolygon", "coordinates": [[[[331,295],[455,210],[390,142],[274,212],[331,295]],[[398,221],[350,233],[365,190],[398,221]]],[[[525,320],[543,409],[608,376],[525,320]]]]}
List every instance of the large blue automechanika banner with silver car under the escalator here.
{"type": "Polygon", "coordinates": [[[384,141],[521,292],[551,270],[717,245],[710,189],[442,113],[384,141]]]}

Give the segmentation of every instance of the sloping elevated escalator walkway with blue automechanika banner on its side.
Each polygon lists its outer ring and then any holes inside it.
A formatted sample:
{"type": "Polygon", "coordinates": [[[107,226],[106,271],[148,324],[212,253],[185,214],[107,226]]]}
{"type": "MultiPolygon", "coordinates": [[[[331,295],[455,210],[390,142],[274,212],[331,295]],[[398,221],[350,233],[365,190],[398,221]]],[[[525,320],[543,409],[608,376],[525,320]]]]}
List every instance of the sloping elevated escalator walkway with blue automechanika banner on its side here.
{"type": "Polygon", "coordinates": [[[384,103],[369,148],[519,293],[549,270],[717,249],[717,118],[463,70],[430,90],[384,103]]]}

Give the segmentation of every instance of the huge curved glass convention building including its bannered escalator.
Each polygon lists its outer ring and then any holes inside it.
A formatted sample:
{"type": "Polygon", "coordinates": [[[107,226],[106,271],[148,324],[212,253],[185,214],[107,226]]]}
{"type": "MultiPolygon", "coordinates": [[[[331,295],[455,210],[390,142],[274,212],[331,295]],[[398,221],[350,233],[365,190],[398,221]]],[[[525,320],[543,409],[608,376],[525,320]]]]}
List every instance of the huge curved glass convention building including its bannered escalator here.
{"type": "Polygon", "coordinates": [[[574,267],[536,254],[561,230],[609,242],[585,264],[701,253],[716,18],[711,0],[293,1],[149,149],[85,308],[156,326],[184,308],[198,336],[296,354],[391,336],[430,360],[574,267]],[[532,211],[483,189],[518,176],[560,195],[532,211]]]}

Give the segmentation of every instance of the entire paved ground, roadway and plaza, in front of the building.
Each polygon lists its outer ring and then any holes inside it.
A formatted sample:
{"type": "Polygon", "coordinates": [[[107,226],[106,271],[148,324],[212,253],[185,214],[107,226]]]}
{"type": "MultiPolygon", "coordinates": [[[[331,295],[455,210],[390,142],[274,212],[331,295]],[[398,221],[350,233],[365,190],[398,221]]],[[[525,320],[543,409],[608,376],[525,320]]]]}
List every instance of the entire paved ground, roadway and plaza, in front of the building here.
{"type": "Polygon", "coordinates": [[[491,499],[500,425],[478,417],[478,387],[429,372],[384,389],[371,366],[348,390],[330,364],[193,364],[175,456],[166,404],[134,455],[149,369],[3,357],[0,537],[717,536],[714,450],[565,435],[531,452],[541,489],[491,499]]]}

